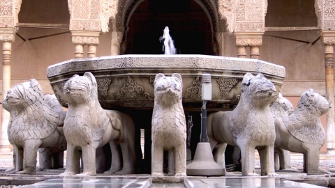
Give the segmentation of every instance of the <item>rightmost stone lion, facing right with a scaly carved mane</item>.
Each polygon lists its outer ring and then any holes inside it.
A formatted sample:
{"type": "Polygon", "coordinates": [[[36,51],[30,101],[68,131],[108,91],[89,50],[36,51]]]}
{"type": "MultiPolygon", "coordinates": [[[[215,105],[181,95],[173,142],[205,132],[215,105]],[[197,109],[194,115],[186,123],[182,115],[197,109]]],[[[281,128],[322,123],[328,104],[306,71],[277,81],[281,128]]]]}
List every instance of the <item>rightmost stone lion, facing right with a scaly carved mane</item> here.
{"type": "Polygon", "coordinates": [[[304,154],[304,171],[308,174],[327,173],[319,168],[319,150],[326,139],[320,116],[329,108],[325,97],[309,89],[301,95],[297,108],[290,116],[274,119],[275,145],[304,154]]]}

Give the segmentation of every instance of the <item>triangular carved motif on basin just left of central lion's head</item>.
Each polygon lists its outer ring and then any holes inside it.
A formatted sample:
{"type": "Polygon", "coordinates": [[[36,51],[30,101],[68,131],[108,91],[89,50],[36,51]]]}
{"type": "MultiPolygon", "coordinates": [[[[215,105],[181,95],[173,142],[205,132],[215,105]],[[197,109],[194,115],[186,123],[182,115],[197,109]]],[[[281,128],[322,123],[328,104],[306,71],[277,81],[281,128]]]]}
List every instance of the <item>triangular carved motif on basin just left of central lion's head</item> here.
{"type": "Polygon", "coordinates": [[[137,86],[136,81],[128,77],[126,81],[124,81],[124,86],[121,88],[120,93],[117,94],[117,100],[135,99],[150,99],[150,97],[148,93],[144,93],[143,87],[137,86]]]}

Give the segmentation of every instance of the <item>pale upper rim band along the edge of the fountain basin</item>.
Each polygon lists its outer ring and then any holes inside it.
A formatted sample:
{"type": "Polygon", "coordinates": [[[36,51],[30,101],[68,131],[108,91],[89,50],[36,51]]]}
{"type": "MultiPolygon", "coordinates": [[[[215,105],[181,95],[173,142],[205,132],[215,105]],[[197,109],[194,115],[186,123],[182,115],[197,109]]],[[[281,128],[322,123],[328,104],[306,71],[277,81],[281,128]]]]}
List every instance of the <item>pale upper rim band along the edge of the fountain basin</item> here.
{"type": "Polygon", "coordinates": [[[94,61],[95,70],[112,70],[120,68],[137,68],[140,70],[159,68],[168,68],[169,70],[205,68],[216,71],[248,71],[260,72],[263,74],[274,75],[276,77],[285,77],[285,68],[261,60],[250,60],[244,58],[232,58],[224,56],[206,56],[206,55],[120,55],[104,56],[100,58],[89,59],[71,59],[63,63],[51,65],[47,68],[47,77],[66,74],[68,72],[89,71],[94,61]],[[128,62],[128,63],[125,63],[128,62]],[[127,66],[125,66],[127,65],[127,66]],[[131,66],[129,66],[131,65],[131,66]]]}

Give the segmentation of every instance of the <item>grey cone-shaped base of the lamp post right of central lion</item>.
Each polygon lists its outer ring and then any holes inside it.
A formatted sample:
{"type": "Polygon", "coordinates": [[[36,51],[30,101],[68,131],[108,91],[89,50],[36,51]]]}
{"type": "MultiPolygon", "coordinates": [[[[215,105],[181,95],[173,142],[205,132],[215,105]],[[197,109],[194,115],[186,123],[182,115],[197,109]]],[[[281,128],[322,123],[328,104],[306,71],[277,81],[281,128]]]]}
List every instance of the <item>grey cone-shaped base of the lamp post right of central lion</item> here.
{"type": "Polygon", "coordinates": [[[208,142],[198,143],[193,162],[186,166],[187,175],[220,176],[225,175],[225,169],[214,162],[211,146],[208,142]]]}

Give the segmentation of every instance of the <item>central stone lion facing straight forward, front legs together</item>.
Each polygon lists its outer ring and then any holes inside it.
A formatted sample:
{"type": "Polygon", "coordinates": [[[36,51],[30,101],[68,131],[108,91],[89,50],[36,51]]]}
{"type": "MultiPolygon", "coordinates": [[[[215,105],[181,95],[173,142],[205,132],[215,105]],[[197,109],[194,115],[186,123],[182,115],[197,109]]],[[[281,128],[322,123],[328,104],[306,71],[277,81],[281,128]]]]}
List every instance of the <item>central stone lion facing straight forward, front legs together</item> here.
{"type": "Polygon", "coordinates": [[[181,104],[181,75],[158,74],[154,81],[154,111],[151,121],[151,175],[163,175],[163,152],[169,152],[170,173],[186,176],[186,118],[181,104]]]}

